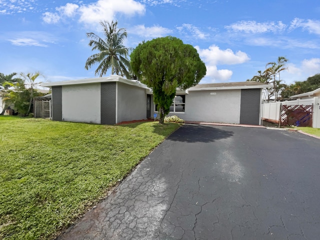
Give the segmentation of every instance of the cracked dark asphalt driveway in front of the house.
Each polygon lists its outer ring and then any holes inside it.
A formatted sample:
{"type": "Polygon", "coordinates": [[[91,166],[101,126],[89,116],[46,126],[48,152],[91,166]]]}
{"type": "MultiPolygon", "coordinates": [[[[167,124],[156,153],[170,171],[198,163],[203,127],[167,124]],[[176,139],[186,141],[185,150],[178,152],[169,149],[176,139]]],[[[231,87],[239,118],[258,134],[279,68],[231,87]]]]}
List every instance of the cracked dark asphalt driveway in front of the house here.
{"type": "Polygon", "coordinates": [[[183,125],[57,239],[319,239],[320,140],[183,125]]]}

